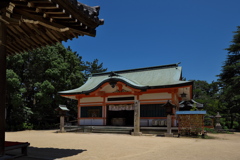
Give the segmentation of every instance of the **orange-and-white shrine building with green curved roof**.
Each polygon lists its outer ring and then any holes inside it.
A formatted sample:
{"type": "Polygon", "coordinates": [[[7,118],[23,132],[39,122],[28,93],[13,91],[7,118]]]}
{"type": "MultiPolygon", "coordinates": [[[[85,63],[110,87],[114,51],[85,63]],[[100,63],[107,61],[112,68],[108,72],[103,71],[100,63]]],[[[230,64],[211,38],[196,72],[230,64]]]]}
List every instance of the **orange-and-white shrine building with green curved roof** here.
{"type": "Polygon", "coordinates": [[[133,126],[134,101],[140,103],[140,126],[166,126],[165,104],[172,104],[172,126],[181,101],[192,99],[192,81],[182,67],[169,64],[93,74],[79,88],[61,91],[78,101],[78,125],[133,126]]]}

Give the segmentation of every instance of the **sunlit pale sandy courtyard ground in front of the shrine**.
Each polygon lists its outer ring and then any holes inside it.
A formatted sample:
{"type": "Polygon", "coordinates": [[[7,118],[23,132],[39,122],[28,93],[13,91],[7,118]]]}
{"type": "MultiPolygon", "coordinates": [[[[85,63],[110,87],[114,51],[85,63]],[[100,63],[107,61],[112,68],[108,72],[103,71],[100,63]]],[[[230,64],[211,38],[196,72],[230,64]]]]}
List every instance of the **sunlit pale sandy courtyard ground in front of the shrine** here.
{"type": "Polygon", "coordinates": [[[29,157],[48,160],[240,160],[240,133],[211,136],[217,138],[138,137],[50,130],[7,132],[6,140],[29,142],[29,157]]]}

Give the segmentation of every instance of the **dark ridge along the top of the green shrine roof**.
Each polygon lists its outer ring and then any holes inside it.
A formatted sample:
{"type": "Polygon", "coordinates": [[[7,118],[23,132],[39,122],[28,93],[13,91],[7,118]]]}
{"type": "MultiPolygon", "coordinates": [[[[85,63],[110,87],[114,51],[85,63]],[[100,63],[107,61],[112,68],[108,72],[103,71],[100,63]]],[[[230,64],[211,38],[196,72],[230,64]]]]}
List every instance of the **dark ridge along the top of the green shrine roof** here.
{"type": "Polygon", "coordinates": [[[128,72],[136,72],[136,71],[144,71],[144,70],[154,70],[154,69],[165,69],[165,68],[173,68],[178,67],[179,63],[168,64],[168,65],[160,65],[160,66],[152,66],[152,67],[144,67],[144,68],[135,68],[135,69],[126,69],[126,70],[119,70],[119,71],[110,71],[110,72],[102,72],[102,73],[94,73],[92,74],[93,77],[95,76],[102,76],[108,75],[111,73],[128,73],[128,72]]]}

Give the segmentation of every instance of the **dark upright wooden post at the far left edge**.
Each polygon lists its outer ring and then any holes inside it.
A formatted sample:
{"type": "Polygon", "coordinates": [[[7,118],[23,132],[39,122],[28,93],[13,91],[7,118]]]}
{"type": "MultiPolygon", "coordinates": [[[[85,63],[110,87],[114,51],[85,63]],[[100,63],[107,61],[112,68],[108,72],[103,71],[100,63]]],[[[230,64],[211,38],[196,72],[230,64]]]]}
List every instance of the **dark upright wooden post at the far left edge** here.
{"type": "Polygon", "coordinates": [[[6,42],[7,26],[0,21],[0,157],[5,152],[6,42]]]}

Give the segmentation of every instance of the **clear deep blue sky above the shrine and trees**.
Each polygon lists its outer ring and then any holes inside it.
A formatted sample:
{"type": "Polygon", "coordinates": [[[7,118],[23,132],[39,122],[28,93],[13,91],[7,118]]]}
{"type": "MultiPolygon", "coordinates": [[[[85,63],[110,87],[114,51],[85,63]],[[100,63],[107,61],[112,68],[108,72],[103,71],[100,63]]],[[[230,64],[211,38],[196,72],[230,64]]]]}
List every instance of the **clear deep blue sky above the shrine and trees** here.
{"type": "Polygon", "coordinates": [[[63,44],[108,71],[181,62],[187,80],[216,81],[240,25],[239,0],[79,0],[100,6],[96,37],[63,44]]]}

